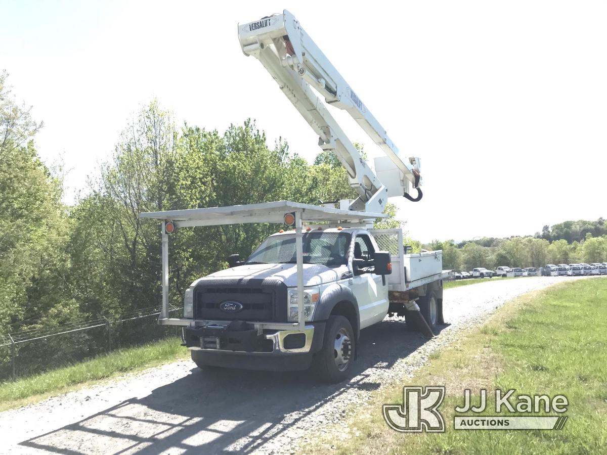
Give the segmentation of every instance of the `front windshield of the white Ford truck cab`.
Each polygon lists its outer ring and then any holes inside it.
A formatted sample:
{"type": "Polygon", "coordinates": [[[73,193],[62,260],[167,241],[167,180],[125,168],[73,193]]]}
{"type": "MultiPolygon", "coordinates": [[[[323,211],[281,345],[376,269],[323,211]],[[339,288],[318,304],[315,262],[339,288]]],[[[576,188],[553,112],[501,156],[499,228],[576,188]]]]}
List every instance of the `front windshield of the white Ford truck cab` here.
{"type": "MultiPolygon", "coordinates": [[[[348,263],[348,232],[305,232],[304,264],[336,267],[348,263]]],[[[246,260],[246,264],[295,264],[295,232],[266,238],[246,260]]]]}

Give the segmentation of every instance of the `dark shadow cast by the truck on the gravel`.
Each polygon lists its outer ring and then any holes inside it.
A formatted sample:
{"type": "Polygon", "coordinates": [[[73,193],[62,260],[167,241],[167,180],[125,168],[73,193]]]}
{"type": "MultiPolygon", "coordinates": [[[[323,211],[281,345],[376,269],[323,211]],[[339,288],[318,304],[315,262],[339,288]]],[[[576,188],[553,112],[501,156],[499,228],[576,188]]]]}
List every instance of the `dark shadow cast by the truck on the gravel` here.
{"type": "Polygon", "coordinates": [[[327,421],[322,415],[309,416],[328,402],[345,409],[352,392],[379,388],[381,370],[426,342],[417,332],[406,331],[402,321],[371,326],[361,332],[353,379],[337,385],[322,385],[311,372],[194,367],[188,376],[148,396],[135,395],[19,444],[63,454],[249,453],[269,450],[270,444],[277,449],[274,444],[287,429],[296,426],[296,437],[303,437],[332,423],[334,414],[327,421]]]}

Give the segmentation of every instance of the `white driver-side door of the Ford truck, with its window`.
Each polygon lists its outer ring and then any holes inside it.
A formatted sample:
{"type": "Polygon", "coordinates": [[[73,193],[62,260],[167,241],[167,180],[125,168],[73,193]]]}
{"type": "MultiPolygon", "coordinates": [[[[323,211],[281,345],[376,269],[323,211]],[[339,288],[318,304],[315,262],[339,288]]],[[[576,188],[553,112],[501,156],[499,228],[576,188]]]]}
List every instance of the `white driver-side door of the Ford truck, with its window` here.
{"type": "MultiPolygon", "coordinates": [[[[353,241],[353,259],[373,259],[375,248],[367,234],[358,234],[353,241]]],[[[388,281],[381,275],[361,274],[352,261],[352,292],[358,301],[361,329],[384,319],[388,311],[388,281]]]]}

